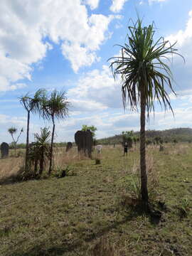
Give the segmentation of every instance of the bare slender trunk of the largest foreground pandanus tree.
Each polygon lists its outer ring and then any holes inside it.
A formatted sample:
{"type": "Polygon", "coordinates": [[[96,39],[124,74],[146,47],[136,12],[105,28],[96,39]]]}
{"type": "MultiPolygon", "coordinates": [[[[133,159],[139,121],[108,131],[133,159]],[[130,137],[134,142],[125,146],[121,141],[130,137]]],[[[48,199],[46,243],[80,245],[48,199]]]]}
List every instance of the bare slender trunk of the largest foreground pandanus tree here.
{"type": "Polygon", "coordinates": [[[148,205],[147,175],[146,175],[146,152],[145,152],[145,110],[146,101],[144,87],[141,90],[141,116],[140,116],[140,169],[141,169],[141,195],[145,206],[148,205]]]}

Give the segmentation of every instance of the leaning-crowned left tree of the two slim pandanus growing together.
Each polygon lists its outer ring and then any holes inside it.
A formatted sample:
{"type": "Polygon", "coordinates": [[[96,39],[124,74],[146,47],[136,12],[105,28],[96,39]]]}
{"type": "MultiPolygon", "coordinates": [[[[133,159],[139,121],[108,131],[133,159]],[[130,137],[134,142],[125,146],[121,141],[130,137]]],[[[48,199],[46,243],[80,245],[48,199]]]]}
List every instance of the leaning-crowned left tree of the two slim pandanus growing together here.
{"type": "Polygon", "coordinates": [[[25,160],[25,169],[28,169],[28,151],[29,151],[29,123],[30,123],[30,114],[31,112],[41,112],[41,105],[43,98],[46,97],[46,90],[39,89],[33,97],[29,96],[28,93],[20,98],[21,105],[27,111],[27,129],[26,129],[26,160],[25,160]]]}

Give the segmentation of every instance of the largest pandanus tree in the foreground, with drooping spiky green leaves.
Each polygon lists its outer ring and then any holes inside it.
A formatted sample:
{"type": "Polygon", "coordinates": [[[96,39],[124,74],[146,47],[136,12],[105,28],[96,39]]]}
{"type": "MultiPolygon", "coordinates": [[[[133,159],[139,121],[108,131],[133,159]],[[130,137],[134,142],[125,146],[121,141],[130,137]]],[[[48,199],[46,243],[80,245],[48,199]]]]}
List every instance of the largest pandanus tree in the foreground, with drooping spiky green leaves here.
{"type": "MultiPolygon", "coordinates": [[[[131,110],[140,107],[140,171],[142,203],[148,207],[148,189],[146,174],[145,151],[145,122],[146,115],[154,112],[154,102],[159,102],[164,110],[171,109],[169,92],[172,87],[173,76],[167,60],[177,53],[175,44],[160,37],[154,41],[154,23],[143,26],[142,20],[128,27],[127,40],[120,46],[121,54],[110,58],[110,68],[114,78],[119,76],[122,81],[122,101],[124,108],[129,103],[131,110]]],[[[180,55],[181,56],[181,55],[180,55]]],[[[182,56],[181,56],[182,57],[182,56]]],[[[183,58],[183,57],[182,57],[183,58]]]]}

